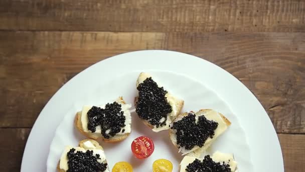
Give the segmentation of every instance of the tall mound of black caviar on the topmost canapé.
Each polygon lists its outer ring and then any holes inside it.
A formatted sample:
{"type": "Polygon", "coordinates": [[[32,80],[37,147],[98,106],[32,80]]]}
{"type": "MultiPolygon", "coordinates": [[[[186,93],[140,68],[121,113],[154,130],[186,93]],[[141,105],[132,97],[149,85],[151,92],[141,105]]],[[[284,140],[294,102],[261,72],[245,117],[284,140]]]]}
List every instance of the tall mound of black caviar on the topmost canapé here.
{"type": "Polygon", "coordinates": [[[151,125],[156,125],[157,128],[166,125],[167,114],[172,112],[172,106],[165,97],[168,92],[163,87],[158,87],[158,84],[151,77],[146,78],[136,89],[139,92],[135,104],[135,112],[138,116],[151,125]],[[165,120],[160,123],[162,118],[165,120]]]}

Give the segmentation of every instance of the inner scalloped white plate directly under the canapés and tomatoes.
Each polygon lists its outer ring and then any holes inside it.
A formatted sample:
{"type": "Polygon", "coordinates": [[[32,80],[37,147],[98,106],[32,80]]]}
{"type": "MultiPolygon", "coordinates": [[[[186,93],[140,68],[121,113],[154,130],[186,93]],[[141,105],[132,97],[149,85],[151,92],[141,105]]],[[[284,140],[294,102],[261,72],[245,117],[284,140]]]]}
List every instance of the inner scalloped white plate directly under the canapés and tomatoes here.
{"type": "MultiPolygon", "coordinates": [[[[240,126],[237,117],[216,93],[207,89],[201,82],[182,74],[166,71],[148,72],[153,75],[153,77],[156,78],[155,80],[158,80],[158,83],[161,83],[164,88],[170,88],[168,90],[170,90],[173,95],[185,101],[183,112],[192,110],[196,112],[200,109],[214,109],[225,114],[232,122],[232,125],[223,135],[217,138],[208,153],[211,154],[215,150],[228,153],[233,152],[236,161],[239,163],[238,168],[240,171],[253,172],[246,135],[240,126]]],[[[88,90],[84,97],[79,97],[79,99],[73,102],[73,106],[65,114],[65,118],[58,126],[51,143],[47,161],[48,172],[56,172],[57,162],[66,145],[76,146],[80,140],[85,138],[81,136],[74,127],[76,112],[81,111],[83,105],[103,105],[107,102],[114,101],[118,96],[123,96],[127,103],[132,103],[136,96],[135,80],[139,73],[140,71],[127,72],[114,77],[111,81],[101,83],[101,85],[95,85],[95,89],[88,90]]],[[[151,131],[142,124],[135,113],[132,114],[132,132],[127,139],[118,144],[101,143],[101,145],[104,147],[110,169],[112,169],[115,162],[128,161],[133,166],[134,171],[153,171],[153,162],[157,159],[165,158],[173,162],[173,171],[178,171],[179,163],[183,158],[183,156],[178,153],[178,149],[171,143],[168,131],[159,133],[151,131]],[[141,135],[152,138],[156,147],[154,153],[145,160],[134,158],[130,150],[132,140],[141,135]]]]}

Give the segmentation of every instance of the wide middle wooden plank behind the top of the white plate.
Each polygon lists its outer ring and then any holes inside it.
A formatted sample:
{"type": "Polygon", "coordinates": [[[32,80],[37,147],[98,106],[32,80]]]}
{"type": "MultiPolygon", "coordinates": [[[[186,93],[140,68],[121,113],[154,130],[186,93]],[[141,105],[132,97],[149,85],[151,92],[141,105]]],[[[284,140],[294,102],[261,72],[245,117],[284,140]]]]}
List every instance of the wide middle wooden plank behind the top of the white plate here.
{"type": "Polygon", "coordinates": [[[205,58],[239,78],[277,132],[305,133],[304,40],[305,33],[0,32],[0,127],[32,127],[52,95],[97,61],[169,49],[205,58]]]}

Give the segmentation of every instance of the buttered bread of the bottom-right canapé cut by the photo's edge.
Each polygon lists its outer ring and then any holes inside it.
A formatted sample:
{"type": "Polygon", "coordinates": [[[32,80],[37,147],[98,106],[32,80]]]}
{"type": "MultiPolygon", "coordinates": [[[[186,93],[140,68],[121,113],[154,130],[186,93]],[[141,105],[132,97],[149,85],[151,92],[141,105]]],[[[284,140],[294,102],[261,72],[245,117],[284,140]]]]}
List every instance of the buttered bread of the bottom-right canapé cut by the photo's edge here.
{"type": "MultiPolygon", "coordinates": [[[[234,160],[233,154],[229,153],[221,153],[216,151],[210,156],[214,162],[220,162],[220,164],[228,164],[231,168],[231,172],[237,172],[237,162],[234,160]]],[[[201,162],[203,158],[196,158],[192,156],[185,156],[180,163],[180,172],[185,172],[187,166],[194,162],[195,159],[199,159],[201,162]]]]}

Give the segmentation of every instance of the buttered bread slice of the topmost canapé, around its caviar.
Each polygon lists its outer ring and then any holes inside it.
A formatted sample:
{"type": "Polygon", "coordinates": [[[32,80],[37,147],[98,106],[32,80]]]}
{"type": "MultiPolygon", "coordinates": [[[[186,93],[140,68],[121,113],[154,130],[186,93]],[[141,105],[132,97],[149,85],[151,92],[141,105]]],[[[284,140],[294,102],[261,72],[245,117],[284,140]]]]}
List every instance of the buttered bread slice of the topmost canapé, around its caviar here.
{"type": "MultiPolygon", "coordinates": [[[[145,72],[141,72],[141,73],[139,74],[137,80],[136,80],[136,87],[138,87],[138,85],[139,85],[140,83],[142,83],[142,82],[143,82],[146,78],[148,78],[148,77],[151,77],[151,75],[148,74],[148,73],[145,73],[145,72]]],[[[154,78],[153,78],[153,80],[154,80],[155,82],[157,82],[154,78]]],[[[157,82],[157,84],[158,84],[158,87],[161,87],[160,84],[159,84],[158,82],[157,82]]],[[[168,114],[168,120],[167,120],[167,122],[166,122],[166,125],[164,125],[164,126],[162,126],[162,127],[159,126],[159,127],[157,128],[156,125],[153,126],[153,125],[151,125],[148,121],[141,119],[142,122],[143,122],[146,126],[148,126],[150,129],[152,129],[154,132],[159,132],[159,131],[162,131],[162,130],[168,130],[168,129],[170,129],[170,125],[171,125],[172,121],[176,118],[176,116],[177,116],[178,114],[180,114],[180,112],[181,112],[181,110],[182,110],[182,108],[183,108],[183,105],[184,105],[184,101],[183,101],[183,100],[180,100],[180,99],[174,97],[174,96],[171,95],[169,92],[166,94],[166,98],[167,98],[169,104],[172,106],[172,109],[173,109],[173,111],[172,111],[171,113],[168,114]]],[[[135,106],[136,106],[137,100],[138,100],[138,97],[135,97],[135,99],[134,99],[134,105],[135,105],[135,106]]]]}

